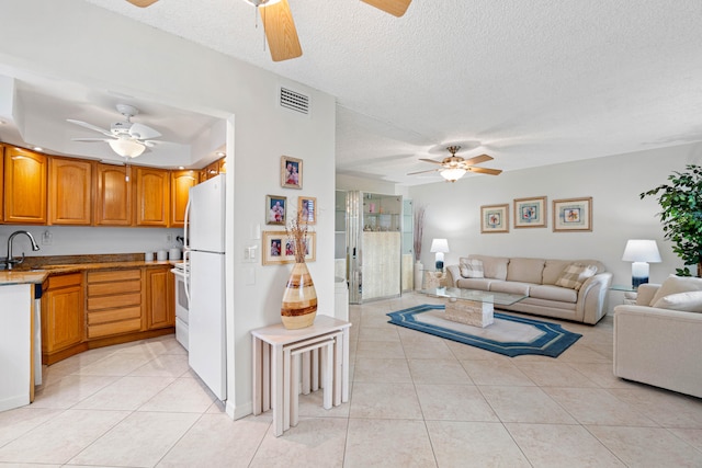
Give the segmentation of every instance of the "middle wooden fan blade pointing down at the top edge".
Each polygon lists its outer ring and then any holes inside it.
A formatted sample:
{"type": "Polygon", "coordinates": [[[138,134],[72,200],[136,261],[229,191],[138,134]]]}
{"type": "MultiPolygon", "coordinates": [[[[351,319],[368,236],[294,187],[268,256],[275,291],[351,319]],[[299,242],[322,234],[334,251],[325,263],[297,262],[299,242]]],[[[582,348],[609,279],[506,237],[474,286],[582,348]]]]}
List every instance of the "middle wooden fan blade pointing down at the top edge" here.
{"type": "Polygon", "coordinates": [[[287,60],[303,55],[287,0],[259,8],[273,61],[287,60]]]}

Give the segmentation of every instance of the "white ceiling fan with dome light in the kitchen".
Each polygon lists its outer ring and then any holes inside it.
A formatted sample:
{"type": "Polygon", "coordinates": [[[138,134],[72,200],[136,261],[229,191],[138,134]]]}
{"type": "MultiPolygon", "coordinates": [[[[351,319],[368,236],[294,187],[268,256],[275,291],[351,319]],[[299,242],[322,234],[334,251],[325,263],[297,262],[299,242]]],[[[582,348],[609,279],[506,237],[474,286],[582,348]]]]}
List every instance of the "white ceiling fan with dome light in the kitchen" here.
{"type": "Polygon", "coordinates": [[[115,122],[110,129],[101,128],[97,125],[82,121],[67,118],[71,124],[101,133],[105,138],[71,138],[72,141],[105,141],[114,152],[125,158],[136,158],[140,156],[146,148],[152,147],[156,141],[154,138],[161,136],[157,130],[144,124],[133,123],[132,117],[139,113],[139,110],[133,105],[117,104],[117,111],[124,115],[124,121],[115,122]]]}

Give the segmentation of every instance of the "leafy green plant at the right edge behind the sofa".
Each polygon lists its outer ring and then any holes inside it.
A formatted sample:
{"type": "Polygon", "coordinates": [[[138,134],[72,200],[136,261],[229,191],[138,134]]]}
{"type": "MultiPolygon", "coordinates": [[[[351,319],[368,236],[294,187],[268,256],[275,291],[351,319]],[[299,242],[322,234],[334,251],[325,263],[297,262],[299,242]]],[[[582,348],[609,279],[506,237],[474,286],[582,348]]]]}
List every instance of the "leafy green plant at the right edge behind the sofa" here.
{"type": "MultiPolygon", "coordinates": [[[[702,276],[702,167],[688,164],[686,172],[673,171],[668,181],[639,197],[658,196],[665,238],[672,241],[672,251],[684,264],[697,265],[697,276],[702,276]]],[[[692,272],[686,266],[676,274],[691,276],[692,272]]]]}

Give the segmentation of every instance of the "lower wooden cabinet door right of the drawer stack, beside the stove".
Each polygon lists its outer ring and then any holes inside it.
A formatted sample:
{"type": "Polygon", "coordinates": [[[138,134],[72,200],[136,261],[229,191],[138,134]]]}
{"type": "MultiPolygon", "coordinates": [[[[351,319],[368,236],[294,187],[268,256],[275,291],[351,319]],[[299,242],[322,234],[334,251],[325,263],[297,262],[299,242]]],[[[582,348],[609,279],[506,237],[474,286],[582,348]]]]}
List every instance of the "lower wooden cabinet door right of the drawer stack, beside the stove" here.
{"type": "Polygon", "coordinates": [[[171,266],[146,269],[146,327],[154,330],[176,326],[174,287],[171,266]]]}

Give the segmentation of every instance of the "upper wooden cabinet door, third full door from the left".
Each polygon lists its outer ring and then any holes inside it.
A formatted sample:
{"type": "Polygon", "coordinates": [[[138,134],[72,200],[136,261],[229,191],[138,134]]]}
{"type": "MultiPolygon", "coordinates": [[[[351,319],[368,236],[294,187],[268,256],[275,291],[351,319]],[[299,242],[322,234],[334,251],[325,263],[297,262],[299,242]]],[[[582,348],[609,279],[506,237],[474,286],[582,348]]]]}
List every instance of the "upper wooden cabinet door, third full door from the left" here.
{"type": "Polygon", "coordinates": [[[97,226],[132,225],[131,168],[124,165],[95,165],[95,216],[97,226]]]}

